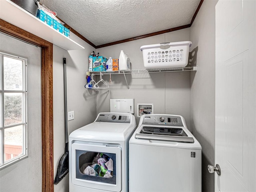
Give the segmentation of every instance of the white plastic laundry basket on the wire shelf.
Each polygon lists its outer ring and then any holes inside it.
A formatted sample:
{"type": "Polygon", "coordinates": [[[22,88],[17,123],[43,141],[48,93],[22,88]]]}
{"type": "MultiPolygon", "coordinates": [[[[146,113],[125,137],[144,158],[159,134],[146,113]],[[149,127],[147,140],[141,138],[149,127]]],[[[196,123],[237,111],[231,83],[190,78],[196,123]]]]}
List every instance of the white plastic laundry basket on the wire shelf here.
{"type": "Polygon", "coordinates": [[[141,46],[144,67],[147,69],[185,67],[188,64],[191,45],[191,41],[182,41],[141,46]]]}

